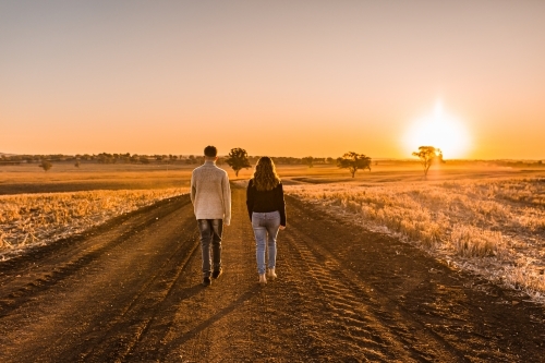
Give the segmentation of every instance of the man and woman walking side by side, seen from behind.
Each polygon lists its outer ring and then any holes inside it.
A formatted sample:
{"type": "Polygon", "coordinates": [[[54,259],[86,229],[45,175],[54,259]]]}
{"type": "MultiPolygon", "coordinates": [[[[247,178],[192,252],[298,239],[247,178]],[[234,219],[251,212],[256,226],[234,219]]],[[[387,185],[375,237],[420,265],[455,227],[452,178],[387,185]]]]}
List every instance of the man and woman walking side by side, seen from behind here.
{"type": "MultiPolygon", "coordinates": [[[[216,147],[207,146],[204,150],[204,165],[193,170],[191,176],[191,202],[201,233],[204,286],[209,286],[213,279],[222,274],[223,226],[231,222],[229,177],[216,166],[217,153],[216,147]]],[[[257,161],[254,178],[250,180],[246,189],[246,207],[254,230],[259,282],[266,283],[267,278],[277,277],[276,240],[278,230],[286,228],[282,183],[269,157],[262,157],[257,161]]]]}

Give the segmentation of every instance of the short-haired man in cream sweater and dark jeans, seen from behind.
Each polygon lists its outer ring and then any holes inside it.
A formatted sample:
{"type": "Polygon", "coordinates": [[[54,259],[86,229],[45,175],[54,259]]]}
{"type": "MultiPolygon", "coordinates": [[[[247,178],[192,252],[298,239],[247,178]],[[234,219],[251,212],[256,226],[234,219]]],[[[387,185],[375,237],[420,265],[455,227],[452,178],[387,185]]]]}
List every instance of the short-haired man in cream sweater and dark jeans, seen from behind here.
{"type": "Polygon", "coordinates": [[[216,166],[218,150],[205,147],[205,162],[191,174],[191,202],[197,218],[203,252],[203,285],[221,273],[221,234],[231,222],[231,189],[227,172],[216,166]],[[210,256],[211,246],[211,256],[210,256]]]}

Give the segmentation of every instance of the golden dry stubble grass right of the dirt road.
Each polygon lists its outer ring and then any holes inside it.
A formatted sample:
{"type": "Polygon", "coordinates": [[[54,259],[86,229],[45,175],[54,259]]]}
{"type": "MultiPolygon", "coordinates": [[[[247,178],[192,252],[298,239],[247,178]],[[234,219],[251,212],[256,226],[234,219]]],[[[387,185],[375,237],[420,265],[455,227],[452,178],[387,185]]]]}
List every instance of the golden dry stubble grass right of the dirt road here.
{"type": "Polygon", "coordinates": [[[545,179],[290,185],[334,214],[387,228],[449,264],[545,301],[545,179]]]}

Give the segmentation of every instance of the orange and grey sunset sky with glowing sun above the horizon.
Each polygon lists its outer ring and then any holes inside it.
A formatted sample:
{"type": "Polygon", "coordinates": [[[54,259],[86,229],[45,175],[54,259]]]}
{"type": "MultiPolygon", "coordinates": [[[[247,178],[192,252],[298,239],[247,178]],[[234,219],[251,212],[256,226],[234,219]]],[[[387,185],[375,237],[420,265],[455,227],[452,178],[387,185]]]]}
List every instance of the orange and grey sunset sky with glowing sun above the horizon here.
{"type": "Polygon", "coordinates": [[[0,153],[545,159],[544,138],[542,0],[0,0],[0,153]]]}

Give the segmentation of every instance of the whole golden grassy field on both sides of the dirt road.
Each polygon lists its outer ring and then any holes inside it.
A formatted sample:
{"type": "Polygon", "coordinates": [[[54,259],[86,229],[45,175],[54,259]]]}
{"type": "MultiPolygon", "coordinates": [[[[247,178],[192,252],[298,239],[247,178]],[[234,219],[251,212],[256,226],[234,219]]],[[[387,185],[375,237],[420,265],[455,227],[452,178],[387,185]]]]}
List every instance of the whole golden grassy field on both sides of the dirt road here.
{"type": "MultiPolygon", "coordinates": [[[[192,165],[58,164],[0,167],[0,249],[46,243],[186,193],[192,165]],[[53,193],[52,193],[53,192],[53,193]]],[[[245,181],[253,170],[233,181],[245,181]]],[[[392,233],[445,263],[545,300],[545,170],[452,162],[427,179],[416,162],[372,172],[278,166],[286,190],[324,213],[392,233]]],[[[2,258],[7,254],[2,253],[2,258]]]]}

